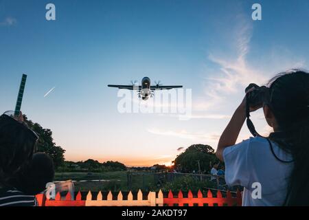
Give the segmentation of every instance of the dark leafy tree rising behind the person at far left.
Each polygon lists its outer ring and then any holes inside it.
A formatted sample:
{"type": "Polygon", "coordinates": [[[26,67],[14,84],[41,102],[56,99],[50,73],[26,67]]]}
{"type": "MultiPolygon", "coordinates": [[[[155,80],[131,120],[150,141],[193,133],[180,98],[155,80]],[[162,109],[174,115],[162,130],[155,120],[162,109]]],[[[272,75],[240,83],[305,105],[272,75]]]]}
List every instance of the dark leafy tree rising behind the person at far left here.
{"type": "Polygon", "coordinates": [[[56,145],[52,137],[52,131],[44,129],[40,124],[28,120],[26,115],[23,115],[23,118],[29,128],[38,135],[36,150],[50,155],[54,161],[55,168],[62,166],[63,162],[65,162],[65,149],[56,145]]]}

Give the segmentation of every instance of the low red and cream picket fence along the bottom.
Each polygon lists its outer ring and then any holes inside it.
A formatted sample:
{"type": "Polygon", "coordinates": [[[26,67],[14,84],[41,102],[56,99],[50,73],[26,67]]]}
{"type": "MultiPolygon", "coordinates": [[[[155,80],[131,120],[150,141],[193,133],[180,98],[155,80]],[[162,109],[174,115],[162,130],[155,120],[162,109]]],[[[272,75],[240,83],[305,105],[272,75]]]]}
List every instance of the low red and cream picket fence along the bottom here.
{"type": "Polygon", "coordinates": [[[62,198],[58,192],[55,199],[46,199],[45,195],[36,195],[39,206],[241,206],[242,195],[240,191],[236,192],[236,197],[232,197],[231,192],[227,191],[226,197],[222,197],[222,193],[218,190],[216,197],[213,197],[212,192],[208,190],[207,196],[203,197],[201,190],[198,190],[197,197],[194,197],[191,190],[187,193],[187,197],[183,197],[183,192],[179,191],[176,197],[172,191],[168,192],[168,197],[163,196],[163,192],[150,191],[147,199],[143,199],[141,190],[137,192],[137,199],[133,199],[133,193],[128,193],[128,198],[124,199],[122,192],[119,191],[117,199],[113,199],[112,192],[108,192],[107,198],[102,199],[102,192],[98,192],[96,197],[93,197],[91,191],[88,192],[85,200],[82,199],[82,194],[78,192],[76,199],[71,199],[71,194],[62,198]]]}

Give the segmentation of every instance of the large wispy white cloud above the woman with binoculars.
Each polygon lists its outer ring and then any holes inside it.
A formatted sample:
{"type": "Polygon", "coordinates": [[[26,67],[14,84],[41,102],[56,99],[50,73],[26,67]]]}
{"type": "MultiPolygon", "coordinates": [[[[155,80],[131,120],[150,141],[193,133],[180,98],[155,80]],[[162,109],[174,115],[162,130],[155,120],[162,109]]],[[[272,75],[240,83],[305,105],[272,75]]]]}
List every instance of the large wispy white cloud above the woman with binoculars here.
{"type": "Polygon", "coordinates": [[[207,69],[207,76],[204,78],[207,98],[203,98],[202,104],[193,102],[193,108],[196,110],[207,111],[212,107],[222,106],[223,103],[229,102],[233,94],[240,92],[240,89],[244,89],[249,83],[264,85],[276,72],[304,67],[306,64],[304,58],[295,56],[288,48],[273,45],[268,53],[263,54],[262,59],[259,58],[262,65],[251,66],[247,61],[247,55],[250,52],[253,33],[252,22],[244,19],[242,14],[238,18],[238,24],[230,31],[227,42],[228,47],[233,50],[229,53],[227,50],[222,53],[216,50],[209,52],[207,56],[207,61],[216,65],[216,72],[214,69],[207,69]]]}

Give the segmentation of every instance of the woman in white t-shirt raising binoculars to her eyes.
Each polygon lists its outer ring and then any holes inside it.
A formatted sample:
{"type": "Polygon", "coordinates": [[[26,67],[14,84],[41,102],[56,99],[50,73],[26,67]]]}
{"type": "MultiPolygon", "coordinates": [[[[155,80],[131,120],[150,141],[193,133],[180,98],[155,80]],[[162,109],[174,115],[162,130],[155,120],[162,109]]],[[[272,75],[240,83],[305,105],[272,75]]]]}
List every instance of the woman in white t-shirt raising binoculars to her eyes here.
{"type": "Polygon", "coordinates": [[[244,186],[243,206],[309,206],[309,74],[284,72],[267,87],[266,101],[250,111],[262,108],[274,132],[236,144],[246,119],[244,98],[218,142],[225,181],[244,186]],[[253,190],[260,196],[252,197],[253,190]]]}

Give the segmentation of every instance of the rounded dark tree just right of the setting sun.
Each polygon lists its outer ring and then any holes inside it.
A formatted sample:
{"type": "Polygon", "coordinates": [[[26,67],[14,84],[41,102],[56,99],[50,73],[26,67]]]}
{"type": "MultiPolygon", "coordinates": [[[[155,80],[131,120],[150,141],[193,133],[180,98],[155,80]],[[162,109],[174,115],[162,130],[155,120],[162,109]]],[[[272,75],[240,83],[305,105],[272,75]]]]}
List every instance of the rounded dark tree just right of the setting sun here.
{"type": "Polygon", "coordinates": [[[174,168],[183,173],[198,172],[198,162],[202,173],[209,173],[209,162],[216,161],[214,148],[204,144],[193,144],[174,160],[174,168]]]}

